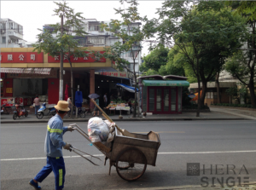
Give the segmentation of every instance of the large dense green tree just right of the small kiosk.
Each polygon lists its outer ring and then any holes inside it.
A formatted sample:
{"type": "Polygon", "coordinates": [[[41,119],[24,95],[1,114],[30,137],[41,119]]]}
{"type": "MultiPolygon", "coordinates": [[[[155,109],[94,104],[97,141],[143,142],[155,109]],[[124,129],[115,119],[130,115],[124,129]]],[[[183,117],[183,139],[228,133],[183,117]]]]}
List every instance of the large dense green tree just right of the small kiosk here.
{"type": "Polygon", "coordinates": [[[228,57],[240,46],[239,35],[244,31],[244,20],[239,15],[233,16],[231,10],[219,2],[200,2],[193,9],[189,5],[192,6],[189,1],[166,1],[159,10],[162,21],[158,28],[161,40],[177,45],[180,59],[176,62],[190,66],[199,90],[202,82],[196,113],[199,117],[207,82],[223,66],[224,62],[219,59],[228,57]]]}

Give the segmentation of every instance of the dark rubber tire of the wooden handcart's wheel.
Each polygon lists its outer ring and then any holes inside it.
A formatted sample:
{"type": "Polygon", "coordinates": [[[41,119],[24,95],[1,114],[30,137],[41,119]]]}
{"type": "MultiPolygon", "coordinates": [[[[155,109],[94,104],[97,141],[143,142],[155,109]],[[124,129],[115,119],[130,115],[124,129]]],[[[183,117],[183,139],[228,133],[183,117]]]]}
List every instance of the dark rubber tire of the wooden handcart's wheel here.
{"type": "MultiPolygon", "coordinates": [[[[131,156],[131,158],[129,158],[129,159],[131,160],[132,158],[134,158],[134,157],[131,156]]],[[[132,161],[132,160],[131,160],[131,161],[132,161]]],[[[129,147],[129,148],[125,149],[123,152],[119,153],[119,156],[118,156],[118,158],[116,159],[115,166],[116,166],[115,169],[116,169],[118,175],[119,175],[122,179],[124,179],[124,180],[126,180],[126,181],[136,181],[136,180],[139,179],[141,176],[143,176],[145,170],[147,169],[147,158],[145,157],[144,153],[143,153],[142,151],[140,151],[139,149],[137,149],[137,148],[135,148],[135,147],[129,147]],[[123,176],[119,171],[121,171],[121,170],[123,170],[123,171],[125,170],[125,171],[126,171],[126,170],[130,170],[130,169],[132,170],[132,168],[134,167],[134,165],[135,165],[136,163],[135,163],[135,161],[134,161],[134,162],[132,163],[133,166],[131,166],[131,164],[129,163],[129,167],[128,167],[128,166],[126,166],[126,167],[119,167],[119,159],[122,157],[123,154],[129,153],[129,152],[132,153],[132,151],[135,152],[136,154],[140,154],[139,156],[143,159],[143,164],[144,164],[144,166],[143,166],[142,172],[141,172],[138,176],[128,178],[128,177],[123,176]]],[[[126,173],[128,173],[128,172],[126,172],[126,173]]],[[[130,174],[132,174],[132,172],[130,172],[130,174]]]]}

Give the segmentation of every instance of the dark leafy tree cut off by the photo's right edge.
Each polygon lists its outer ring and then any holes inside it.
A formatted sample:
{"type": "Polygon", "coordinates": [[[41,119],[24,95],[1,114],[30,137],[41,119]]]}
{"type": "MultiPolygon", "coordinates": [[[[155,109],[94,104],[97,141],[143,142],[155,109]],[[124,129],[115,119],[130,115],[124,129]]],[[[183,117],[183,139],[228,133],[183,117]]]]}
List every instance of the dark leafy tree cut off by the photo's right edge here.
{"type": "Polygon", "coordinates": [[[253,107],[256,107],[255,76],[256,76],[256,2],[230,3],[234,14],[241,14],[247,22],[246,35],[241,39],[244,46],[233,55],[225,68],[232,76],[247,86],[253,107]]]}

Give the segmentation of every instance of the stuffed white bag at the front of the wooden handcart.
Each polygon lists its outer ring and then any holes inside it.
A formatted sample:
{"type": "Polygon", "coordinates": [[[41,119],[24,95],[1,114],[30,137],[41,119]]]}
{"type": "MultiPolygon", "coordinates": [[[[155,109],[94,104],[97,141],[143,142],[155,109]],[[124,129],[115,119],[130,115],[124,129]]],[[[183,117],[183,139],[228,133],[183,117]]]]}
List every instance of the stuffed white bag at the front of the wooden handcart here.
{"type": "Polygon", "coordinates": [[[108,124],[102,118],[90,118],[88,121],[88,135],[91,142],[107,141],[109,135],[108,124]]]}

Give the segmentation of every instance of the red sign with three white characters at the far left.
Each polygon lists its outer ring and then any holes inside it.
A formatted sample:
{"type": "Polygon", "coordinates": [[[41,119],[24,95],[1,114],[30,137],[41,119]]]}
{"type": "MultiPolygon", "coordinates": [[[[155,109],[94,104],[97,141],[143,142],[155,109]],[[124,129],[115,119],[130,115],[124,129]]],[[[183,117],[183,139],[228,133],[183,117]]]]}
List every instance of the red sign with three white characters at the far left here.
{"type": "Polygon", "coordinates": [[[1,63],[44,63],[44,53],[36,52],[2,52],[1,63]]]}

